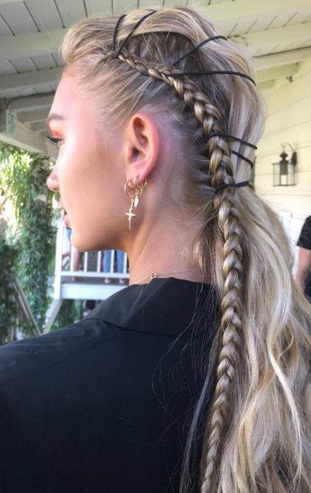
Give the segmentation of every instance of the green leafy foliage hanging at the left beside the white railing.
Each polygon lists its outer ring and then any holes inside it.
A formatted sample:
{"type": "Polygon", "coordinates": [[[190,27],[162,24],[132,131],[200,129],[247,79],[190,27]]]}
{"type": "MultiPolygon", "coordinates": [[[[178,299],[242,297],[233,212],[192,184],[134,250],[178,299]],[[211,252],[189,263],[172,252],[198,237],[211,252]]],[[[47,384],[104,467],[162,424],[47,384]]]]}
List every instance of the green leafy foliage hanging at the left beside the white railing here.
{"type": "Polygon", "coordinates": [[[48,278],[55,254],[53,194],[46,187],[50,168],[45,156],[0,145],[1,194],[11,199],[15,210],[16,223],[9,238],[12,242],[15,237],[17,248],[15,272],[39,328],[49,306],[48,278]]]}

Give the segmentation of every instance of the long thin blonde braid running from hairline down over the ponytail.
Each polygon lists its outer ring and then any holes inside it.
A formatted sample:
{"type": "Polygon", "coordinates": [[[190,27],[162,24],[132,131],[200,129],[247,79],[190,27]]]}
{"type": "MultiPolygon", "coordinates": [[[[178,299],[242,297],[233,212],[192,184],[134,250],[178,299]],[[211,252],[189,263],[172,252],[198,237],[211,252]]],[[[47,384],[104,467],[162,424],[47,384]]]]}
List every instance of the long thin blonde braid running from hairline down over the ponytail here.
{"type": "MultiPolygon", "coordinates": [[[[163,80],[167,85],[176,89],[187,107],[193,110],[194,116],[203,127],[203,134],[208,137],[210,132],[223,132],[220,112],[213,106],[212,101],[201,91],[196,82],[189,77],[176,77],[176,68],[156,65],[146,62],[132,54],[120,54],[120,60],[126,61],[144,75],[157,80],[163,80]],[[174,73],[174,77],[170,77],[174,73]]],[[[220,137],[208,141],[210,156],[209,173],[212,176],[212,187],[222,183],[234,182],[233,165],[229,158],[229,145],[220,137]]],[[[233,192],[234,193],[234,192],[233,192]]],[[[232,204],[233,194],[229,189],[220,189],[215,196],[214,206],[218,213],[220,235],[224,242],[223,267],[224,297],[221,302],[222,310],[222,349],[217,366],[217,385],[212,404],[210,425],[207,428],[207,454],[205,456],[205,472],[201,493],[212,493],[217,488],[217,457],[219,456],[222,432],[229,423],[229,397],[231,382],[236,375],[239,347],[241,346],[241,313],[242,313],[242,249],[239,215],[232,204]]]]}

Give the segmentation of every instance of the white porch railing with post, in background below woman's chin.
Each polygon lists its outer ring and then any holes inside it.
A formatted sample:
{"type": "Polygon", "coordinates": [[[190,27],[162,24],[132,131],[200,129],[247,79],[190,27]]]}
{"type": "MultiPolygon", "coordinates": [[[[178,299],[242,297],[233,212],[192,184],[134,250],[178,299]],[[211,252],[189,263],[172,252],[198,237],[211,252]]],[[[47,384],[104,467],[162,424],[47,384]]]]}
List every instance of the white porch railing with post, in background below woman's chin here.
{"type": "MultiPolygon", "coordinates": [[[[54,299],[61,299],[61,285],[63,282],[87,282],[89,285],[92,281],[95,283],[102,280],[103,285],[105,280],[108,282],[122,282],[129,278],[127,268],[127,254],[123,252],[122,271],[115,272],[116,251],[110,251],[110,266],[109,270],[103,270],[103,258],[105,252],[92,251],[79,254],[70,244],[65,225],[60,220],[58,222],[58,232],[56,239],[56,263],[55,263],[55,279],[54,279],[54,299]],[[75,263],[82,263],[82,268],[75,268],[75,263]]],[[[120,264],[120,261],[119,261],[120,264]]],[[[77,267],[77,266],[76,266],[77,267]]],[[[121,270],[121,269],[119,269],[121,270]]]]}

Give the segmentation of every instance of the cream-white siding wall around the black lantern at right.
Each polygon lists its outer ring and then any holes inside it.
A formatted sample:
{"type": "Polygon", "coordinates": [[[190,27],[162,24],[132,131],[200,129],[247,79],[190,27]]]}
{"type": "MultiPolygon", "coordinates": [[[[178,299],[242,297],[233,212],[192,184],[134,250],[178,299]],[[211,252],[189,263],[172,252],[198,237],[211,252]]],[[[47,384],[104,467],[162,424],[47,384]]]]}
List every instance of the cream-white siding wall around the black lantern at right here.
{"type": "MultiPolygon", "coordinates": [[[[264,95],[268,118],[256,154],[255,187],[284,219],[294,245],[311,214],[311,61],[300,63],[293,82],[285,77],[277,80],[264,95]],[[297,185],[293,187],[273,187],[272,163],[280,161],[281,142],[289,142],[297,151],[297,185]]],[[[291,158],[291,149],[286,146],[285,150],[291,158]]]]}

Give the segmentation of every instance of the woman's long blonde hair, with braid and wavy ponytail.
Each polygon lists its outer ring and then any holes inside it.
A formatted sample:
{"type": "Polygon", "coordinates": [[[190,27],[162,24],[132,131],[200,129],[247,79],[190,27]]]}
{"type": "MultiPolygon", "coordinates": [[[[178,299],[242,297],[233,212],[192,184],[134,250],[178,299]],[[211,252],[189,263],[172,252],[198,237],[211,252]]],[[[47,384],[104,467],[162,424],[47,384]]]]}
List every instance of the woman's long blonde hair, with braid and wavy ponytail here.
{"type": "MultiPolygon", "coordinates": [[[[118,46],[146,13],[122,19],[118,46]]],[[[188,158],[183,207],[203,221],[189,256],[212,279],[222,314],[215,358],[205,355],[210,363],[202,368],[207,375],[180,491],[197,491],[189,470],[203,419],[201,467],[196,465],[201,493],[307,493],[310,306],[293,282],[291,249],[273,211],[253,187],[217,190],[248,179],[249,163],[232,151],[253,159],[254,149],[224,135],[258,142],[265,105],[255,85],[239,75],[178,76],[210,70],[252,76],[250,62],[237,46],[215,39],[173,65],[193,45],[217,35],[210,20],[191,8],[159,9],[118,56],[116,23],[89,18],[71,27],[63,42],[65,64],[79,64],[82,90],[115,125],[143,107],[171,118],[188,158]],[[220,135],[210,137],[215,133],[220,135]],[[215,372],[209,404],[206,389],[215,372]]]]}

